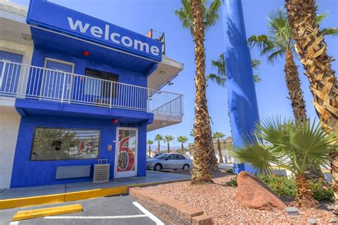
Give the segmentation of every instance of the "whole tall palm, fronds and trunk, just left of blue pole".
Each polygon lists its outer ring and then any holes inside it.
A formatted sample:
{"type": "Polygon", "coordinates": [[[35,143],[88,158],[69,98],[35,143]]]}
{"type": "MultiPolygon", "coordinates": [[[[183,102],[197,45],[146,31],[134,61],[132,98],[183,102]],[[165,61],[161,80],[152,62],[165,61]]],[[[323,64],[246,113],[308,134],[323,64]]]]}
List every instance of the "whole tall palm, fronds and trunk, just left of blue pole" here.
{"type": "Polygon", "coordinates": [[[217,168],[217,159],[212,145],[208,105],[205,96],[205,29],[215,25],[220,18],[220,0],[181,0],[182,6],[175,14],[188,28],[195,42],[195,151],[191,176],[193,184],[212,182],[210,169],[217,168]]]}

